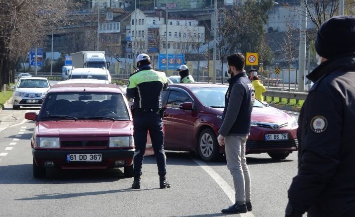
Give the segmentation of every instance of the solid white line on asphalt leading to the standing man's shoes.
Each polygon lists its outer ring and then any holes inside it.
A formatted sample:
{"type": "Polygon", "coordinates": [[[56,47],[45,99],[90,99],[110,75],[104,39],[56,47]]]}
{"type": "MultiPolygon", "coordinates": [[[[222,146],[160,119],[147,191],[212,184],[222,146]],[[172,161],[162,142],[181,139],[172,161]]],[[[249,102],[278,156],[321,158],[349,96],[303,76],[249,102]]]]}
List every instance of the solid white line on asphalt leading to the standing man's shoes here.
{"type": "MultiPolygon", "coordinates": [[[[200,167],[202,167],[202,169],[204,169],[208,173],[208,175],[210,175],[215,180],[215,182],[219,185],[219,187],[221,187],[222,190],[224,191],[224,193],[228,196],[230,201],[232,201],[232,203],[235,203],[235,196],[234,196],[235,191],[233,190],[233,188],[230,187],[228,185],[228,183],[218,173],[216,173],[216,171],[214,171],[210,166],[205,164],[203,161],[199,161],[199,160],[195,160],[195,159],[193,159],[193,160],[200,167]]],[[[237,214],[237,216],[254,217],[252,212],[240,213],[240,214],[237,214]]]]}

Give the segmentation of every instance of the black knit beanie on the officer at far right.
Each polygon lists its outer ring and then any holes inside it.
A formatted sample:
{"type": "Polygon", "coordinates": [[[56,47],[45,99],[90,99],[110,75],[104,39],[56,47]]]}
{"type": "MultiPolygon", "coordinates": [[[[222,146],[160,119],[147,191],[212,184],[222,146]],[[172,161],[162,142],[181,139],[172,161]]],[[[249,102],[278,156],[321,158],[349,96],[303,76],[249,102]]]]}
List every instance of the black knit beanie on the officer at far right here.
{"type": "Polygon", "coordinates": [[[355,17],[337,16],[324,21],[317,32],[315,47],[327,59],[355,52],[355,17]]]}

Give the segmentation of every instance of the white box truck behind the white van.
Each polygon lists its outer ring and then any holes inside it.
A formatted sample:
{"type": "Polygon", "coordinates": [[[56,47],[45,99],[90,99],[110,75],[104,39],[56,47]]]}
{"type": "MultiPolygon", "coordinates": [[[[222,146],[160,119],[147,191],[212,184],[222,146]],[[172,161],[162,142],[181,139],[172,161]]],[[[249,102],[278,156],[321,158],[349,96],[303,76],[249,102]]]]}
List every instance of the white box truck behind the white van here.
{"type": "Polygon", "coordinates": [[[72,53],[73,68],[108,68],[105,51],[80,51],[72,53]]]}

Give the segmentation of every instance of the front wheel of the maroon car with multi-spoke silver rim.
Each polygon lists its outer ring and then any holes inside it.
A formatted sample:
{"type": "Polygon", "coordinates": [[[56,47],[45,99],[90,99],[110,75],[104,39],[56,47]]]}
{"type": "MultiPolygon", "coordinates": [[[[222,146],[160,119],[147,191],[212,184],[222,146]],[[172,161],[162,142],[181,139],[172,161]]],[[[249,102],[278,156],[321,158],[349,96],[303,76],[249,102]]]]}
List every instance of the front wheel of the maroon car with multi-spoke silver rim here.
{"type": "Polygon", "coordinates": [[[210,128],[204,129],[200,133],[198,149],[204,161],[217,161],[221,158],[216,134],[210,128]]]}

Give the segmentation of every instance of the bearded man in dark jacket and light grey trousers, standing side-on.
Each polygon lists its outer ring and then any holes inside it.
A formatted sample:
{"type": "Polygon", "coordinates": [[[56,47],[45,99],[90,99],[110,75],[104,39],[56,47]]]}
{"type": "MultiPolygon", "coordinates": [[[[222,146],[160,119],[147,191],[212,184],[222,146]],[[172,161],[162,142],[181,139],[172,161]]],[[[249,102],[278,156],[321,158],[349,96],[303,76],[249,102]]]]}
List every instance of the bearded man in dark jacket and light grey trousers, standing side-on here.
{"type": "Polygon", "coordinates": [[[231,77],[226,93],[222,125],[218,142],[225,147],[227,168],[235,189],[235,204],[223,213],[251,211],[250,174],[245,158],[245,144],[250,133],[250,115],[254,102],[254,87],[245,74],[245,58],[241,53],[227,56],[228,75],[231,77]]]}

